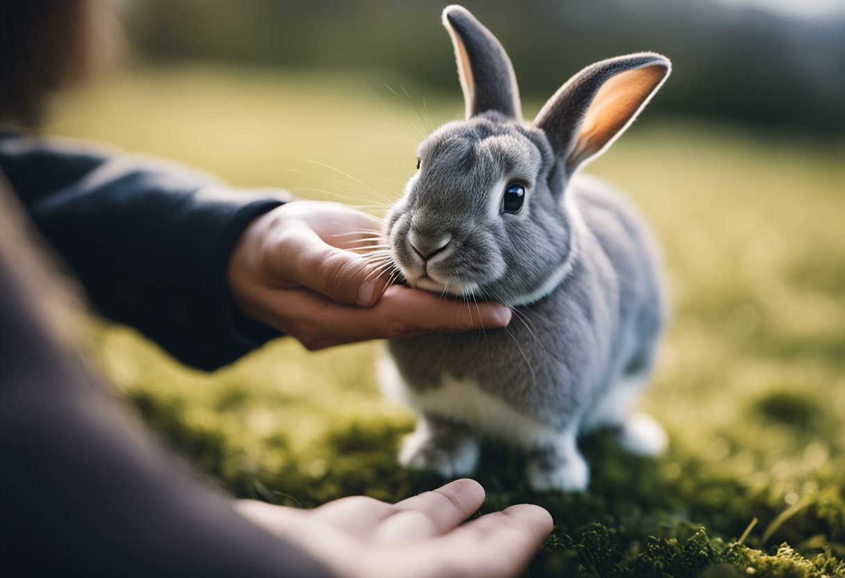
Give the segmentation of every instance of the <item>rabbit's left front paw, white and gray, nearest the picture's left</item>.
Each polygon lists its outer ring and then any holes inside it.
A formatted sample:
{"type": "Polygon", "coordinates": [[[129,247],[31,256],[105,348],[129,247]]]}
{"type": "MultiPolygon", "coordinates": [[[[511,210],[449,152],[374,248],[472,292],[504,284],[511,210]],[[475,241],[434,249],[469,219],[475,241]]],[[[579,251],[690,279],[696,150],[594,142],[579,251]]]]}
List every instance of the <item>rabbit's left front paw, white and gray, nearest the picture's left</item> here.
{"type": "Polygon", "coordinates": [[[402,443],[399,462],[414,470],[438,472],[447,478],[467,476],[478,463],[478,443],[463,432],[453,430],[449,435],[436,435],[428,428],[417,428],[402,443]]]}

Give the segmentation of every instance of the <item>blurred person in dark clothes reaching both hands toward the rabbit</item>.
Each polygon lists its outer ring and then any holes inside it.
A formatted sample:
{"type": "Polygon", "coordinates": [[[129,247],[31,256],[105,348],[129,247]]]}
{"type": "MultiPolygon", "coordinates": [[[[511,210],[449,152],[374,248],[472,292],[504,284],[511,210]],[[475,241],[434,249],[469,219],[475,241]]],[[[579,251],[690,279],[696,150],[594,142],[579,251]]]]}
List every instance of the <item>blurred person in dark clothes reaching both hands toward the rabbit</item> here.
{"type": "MultiPolygon", "coordinates": [[[[0,3],[0,122],[35,126],[52,91],[89,74],[101,7],[0,3]]],[[[51,251],[102,314],[197,368],[277,335],[309,349],[500,327],[510,311],[385,286],[340,204],[244,191],[162,161],[0,134],[0,575],[515,575],[551,530],[514,506],[462,524],[459,480],[385,504],[316,510],[235,500],[158,447],[60,329],[79,308],[51,251]],[[27,218],[28,217],[28,218],[27,218]],[[36,237],[46,249],[35,248],[36,237]],[[355,234],[349,235],[355,237],[355,234]]]]}

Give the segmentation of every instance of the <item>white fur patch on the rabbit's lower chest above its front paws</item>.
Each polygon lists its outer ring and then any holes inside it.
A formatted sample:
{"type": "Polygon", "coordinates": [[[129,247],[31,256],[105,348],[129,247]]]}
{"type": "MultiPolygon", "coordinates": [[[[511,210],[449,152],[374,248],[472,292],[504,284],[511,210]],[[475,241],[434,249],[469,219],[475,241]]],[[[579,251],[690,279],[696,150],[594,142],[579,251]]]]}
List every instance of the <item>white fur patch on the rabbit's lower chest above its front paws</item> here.
{"type": "Polygon", "coordinates": [[[510,444],[535,447],[551,442],[559,432],[526,414],[516,411],[499,398],[488,394],[471,379],[445,376],[439,387],[425,391],[409,388],[393,360],[384,355],[379,363],[384,393],[417,411],[430,412],[466,423],[479,434],[504,439],[510,444]]]}

